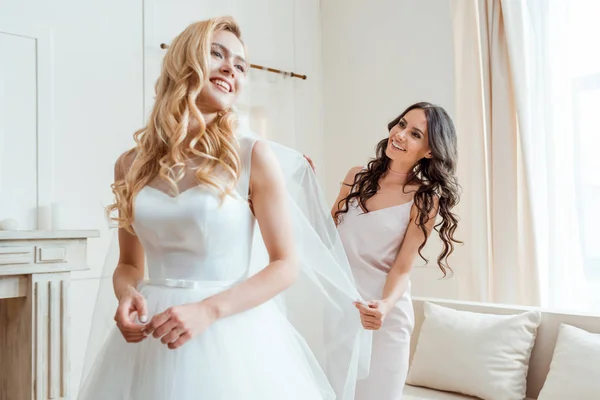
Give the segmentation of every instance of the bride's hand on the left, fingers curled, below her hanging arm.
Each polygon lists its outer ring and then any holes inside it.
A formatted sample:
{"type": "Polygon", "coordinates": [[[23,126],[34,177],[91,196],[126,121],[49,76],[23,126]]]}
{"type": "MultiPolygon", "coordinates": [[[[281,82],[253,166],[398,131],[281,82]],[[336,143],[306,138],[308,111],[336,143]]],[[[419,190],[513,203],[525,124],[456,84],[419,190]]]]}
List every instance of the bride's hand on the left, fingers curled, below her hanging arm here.
{"type": "Polygon", "coordinates": [[[137,316],[140,322],[146,322],[147,315],[146,299],[137,290],[130,288],[119,298],[115,322],[128,343],[139,343],[147,337],[144,325],[135,322],[137,316]]]}

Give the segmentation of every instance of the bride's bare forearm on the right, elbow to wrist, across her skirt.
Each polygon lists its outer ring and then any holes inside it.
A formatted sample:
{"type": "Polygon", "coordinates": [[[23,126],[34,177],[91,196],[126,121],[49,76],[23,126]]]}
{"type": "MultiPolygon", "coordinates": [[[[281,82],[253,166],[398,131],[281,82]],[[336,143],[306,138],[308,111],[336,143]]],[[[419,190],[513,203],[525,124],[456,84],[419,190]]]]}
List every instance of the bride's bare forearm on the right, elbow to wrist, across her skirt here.
{"type": "Polygon", "coordinates": [[[290,287],[298,276],[296,261],[278,260],[244,282],[203,300],[215,319],[254,308],[290,287]]]}

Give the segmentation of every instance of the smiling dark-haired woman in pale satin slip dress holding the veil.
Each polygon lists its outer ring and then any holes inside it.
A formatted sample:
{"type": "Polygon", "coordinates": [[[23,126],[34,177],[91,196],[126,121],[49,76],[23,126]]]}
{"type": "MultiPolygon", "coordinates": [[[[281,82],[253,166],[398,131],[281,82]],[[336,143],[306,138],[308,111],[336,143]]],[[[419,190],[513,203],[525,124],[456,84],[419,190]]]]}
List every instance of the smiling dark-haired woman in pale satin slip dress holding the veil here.
{"type": "Polygon", "coordinates": [[[410,106],[388,124],[376,157],[352,168],[331,210],[360,294],[362,325],[373,330],[371,369],[356,400],[397,400],[408,372],[414,312],[410,273],[432,229],[443,250],[437,264],[451,273],[459,200],[456,131],[446,111],[410,106]],[[439,217],[436,224],[435,220],[439,217]]]}

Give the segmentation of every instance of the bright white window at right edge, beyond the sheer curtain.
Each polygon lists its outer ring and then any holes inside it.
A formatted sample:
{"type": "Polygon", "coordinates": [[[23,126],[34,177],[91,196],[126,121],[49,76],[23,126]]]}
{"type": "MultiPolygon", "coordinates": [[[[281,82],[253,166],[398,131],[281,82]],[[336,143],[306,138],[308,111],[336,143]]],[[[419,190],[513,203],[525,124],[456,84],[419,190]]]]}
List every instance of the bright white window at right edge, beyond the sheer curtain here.
{"type": "MultiPolygon", "coordinates": [[[[600,304],[600,2],[567,2],[565,54],[571,94],[575,203],[584,277],[592,311],[600,304]]],[[[560,138],[560,136],[557,136],[560,138]]]]}

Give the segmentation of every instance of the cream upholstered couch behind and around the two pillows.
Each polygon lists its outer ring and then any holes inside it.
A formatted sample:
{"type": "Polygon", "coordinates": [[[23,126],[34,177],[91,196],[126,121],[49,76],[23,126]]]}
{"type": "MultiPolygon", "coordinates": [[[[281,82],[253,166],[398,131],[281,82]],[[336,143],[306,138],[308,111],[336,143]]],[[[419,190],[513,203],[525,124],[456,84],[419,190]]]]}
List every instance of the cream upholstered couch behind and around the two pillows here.
{"type": "MultiPolygon", "coordinates": [[[[411,340],[411,362],[415,354],[419,333],[424,321],[424,303],[430,302],[455,310],[471,311],[484,314],[520,314],[532,308],[512,307],[504,305],[448,301],[440,299],[414,298],[415,329],[411,340]]],[[[537,399],[548,371],[554,353],[558,329],[561,323],[579,327],[592,333],[600,333],[600,316],[586,316],[577,314],[563,314],[552,311],[540,310],[542,319],[537,332],[535,344],[529,361],[527,374],[527,398],[537,399]]],[[[600,379],[600,376],[598,376],[600,379]]],[[[441,392],[438,390],[406,385],[403,400],[455,400],[473,399],[473,397],[441,392]]],[[[598,394],[600,399],[600,393],[598,394]]],[[[570,400],[570,399],[565,399],[570,400]]]]}

